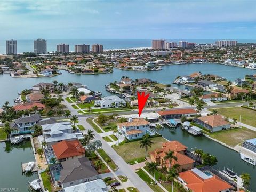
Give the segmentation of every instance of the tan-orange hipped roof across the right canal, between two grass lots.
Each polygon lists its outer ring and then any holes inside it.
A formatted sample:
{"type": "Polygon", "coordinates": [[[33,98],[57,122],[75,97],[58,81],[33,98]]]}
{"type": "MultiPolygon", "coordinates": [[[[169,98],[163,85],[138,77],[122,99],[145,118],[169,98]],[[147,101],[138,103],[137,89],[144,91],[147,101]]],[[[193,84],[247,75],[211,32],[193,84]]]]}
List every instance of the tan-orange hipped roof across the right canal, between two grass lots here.
{"type": "Polygon", "coordinates": [[[217,127],[217,126],[230,124],[221,115],[203,116],[203,117],[198,117],[198,119],[203,121],[204,123],[210,125],[211,127],[217,127]]]}

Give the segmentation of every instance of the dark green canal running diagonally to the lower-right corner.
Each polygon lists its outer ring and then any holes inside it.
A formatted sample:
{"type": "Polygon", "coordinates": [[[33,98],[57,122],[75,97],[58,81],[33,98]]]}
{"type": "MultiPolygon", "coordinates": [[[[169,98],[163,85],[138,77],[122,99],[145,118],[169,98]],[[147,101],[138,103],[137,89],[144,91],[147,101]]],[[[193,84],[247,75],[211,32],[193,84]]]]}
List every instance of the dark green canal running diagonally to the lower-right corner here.
{"type": "Polygon", "coordinates": [[[217,170],[222,171],[224,167],[229,166],[230,169],[234,169],[237,175],[249,173],[251,175],[249,190],[256,191],[256,169],[252,165],[240,160],[240,155],[236,151],[222,146],[203,135],[191,135],[187,131],[182,130],[181,127],[177,127],[177,129],[165,128],[160,130],[159,134],[162,134],[164,138],[170,141],[177,140],[183,143],[190,151],[202,149],[204,152],[214,155],[218,160],[217,165],[214,166],[217,170]]]}

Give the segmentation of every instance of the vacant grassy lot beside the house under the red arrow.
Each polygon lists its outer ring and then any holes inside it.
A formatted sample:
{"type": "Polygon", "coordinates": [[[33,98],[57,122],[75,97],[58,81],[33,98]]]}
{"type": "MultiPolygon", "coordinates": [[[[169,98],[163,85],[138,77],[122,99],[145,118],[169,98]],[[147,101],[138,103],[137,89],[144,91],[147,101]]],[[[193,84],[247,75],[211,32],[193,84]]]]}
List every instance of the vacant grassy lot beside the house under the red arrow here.
{"type": "MultiPolygon", "coordinates": [[[[148,148],[148,152],[156,148],[161,148],[162,143],[166,142],[163,137],[151,138],[154,144],[148,148]]],[[[123,145],[114,146],[113,149],[124,159],[127,163],[132,163],[137,160],[145,158],[145,148],[140,148],[140,140],[124,143],[123,145]]],[[[147,155],[149,156],[149,155],[147,155]]]]}

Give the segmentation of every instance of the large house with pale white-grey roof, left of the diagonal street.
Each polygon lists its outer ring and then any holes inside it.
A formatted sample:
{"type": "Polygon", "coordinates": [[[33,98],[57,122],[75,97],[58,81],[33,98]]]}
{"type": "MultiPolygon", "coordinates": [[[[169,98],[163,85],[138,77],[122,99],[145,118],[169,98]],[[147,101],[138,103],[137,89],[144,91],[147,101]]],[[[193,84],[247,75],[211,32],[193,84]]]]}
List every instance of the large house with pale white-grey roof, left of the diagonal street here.
{"type": "Polygon", "coordinates": [[[59,122],[54,124],[41,125],[43,130],[43,138],[47,143],[47,146],[52,146],[61,141],[73,141],[77,140],[75,134],[73,134],[72,126],[70,122],[59,122]]]}

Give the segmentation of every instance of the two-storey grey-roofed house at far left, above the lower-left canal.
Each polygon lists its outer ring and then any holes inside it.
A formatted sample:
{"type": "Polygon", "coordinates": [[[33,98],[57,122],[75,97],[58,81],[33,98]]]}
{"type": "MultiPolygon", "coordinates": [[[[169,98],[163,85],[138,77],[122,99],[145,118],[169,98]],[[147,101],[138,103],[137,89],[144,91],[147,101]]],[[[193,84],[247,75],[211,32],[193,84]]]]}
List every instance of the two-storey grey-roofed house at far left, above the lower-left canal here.
{"type": "Polygon", "coordinates": [[[31,127],[41,119],[42,117],[39,114],[22,115],[22,117],[16,119],[14,123],[11,123],[11,135],[33,133],[34,130],[31,130],[31,127]]]}

